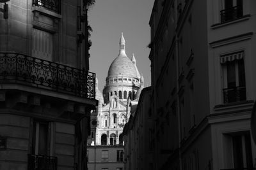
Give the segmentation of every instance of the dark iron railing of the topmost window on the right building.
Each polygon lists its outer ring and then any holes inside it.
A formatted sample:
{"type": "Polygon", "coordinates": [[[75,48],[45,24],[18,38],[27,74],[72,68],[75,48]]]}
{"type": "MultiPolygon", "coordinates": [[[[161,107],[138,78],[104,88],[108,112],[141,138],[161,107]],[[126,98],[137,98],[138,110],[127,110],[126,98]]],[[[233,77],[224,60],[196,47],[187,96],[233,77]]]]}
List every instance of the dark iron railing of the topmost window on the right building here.
{"type": "Polygon", "coordinates": [[[243,6],[234,6],[220,11],[221,23],[243,17],[243,6]]]}

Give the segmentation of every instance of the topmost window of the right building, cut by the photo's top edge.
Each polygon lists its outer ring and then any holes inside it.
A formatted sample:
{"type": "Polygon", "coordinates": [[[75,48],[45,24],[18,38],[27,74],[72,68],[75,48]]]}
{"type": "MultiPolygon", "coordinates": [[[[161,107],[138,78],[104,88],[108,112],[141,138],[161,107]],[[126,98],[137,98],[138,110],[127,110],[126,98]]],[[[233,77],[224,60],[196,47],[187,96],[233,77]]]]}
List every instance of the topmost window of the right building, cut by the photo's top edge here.
{"type": "Polygon", "coordinates": [[[224,0],[221,23],[243,17],[243,0],[224,0]]]}

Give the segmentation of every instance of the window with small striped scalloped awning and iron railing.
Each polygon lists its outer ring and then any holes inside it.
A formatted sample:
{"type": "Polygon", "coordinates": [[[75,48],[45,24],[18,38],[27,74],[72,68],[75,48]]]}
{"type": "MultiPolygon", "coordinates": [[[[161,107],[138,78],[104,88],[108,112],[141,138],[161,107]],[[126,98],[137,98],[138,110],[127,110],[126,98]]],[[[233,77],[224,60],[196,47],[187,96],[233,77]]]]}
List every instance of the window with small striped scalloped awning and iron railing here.
{"type": "Polygon", "coordinates": [[[223,66],[223,102],[246,100],[244,52],[221,55],[223,66]]]}

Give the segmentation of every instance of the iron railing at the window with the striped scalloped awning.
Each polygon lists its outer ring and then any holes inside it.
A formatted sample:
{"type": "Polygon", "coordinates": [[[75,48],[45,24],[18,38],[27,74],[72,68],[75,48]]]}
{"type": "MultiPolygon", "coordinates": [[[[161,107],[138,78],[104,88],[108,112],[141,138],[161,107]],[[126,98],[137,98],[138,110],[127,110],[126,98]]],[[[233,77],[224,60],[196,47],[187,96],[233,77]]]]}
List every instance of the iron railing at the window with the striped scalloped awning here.
{"type": "Polygon", "coordinates": [[[234,87],[230,89],[223,89],[224,103],[232,103],[246,100],[245,87],[234,87]]]}

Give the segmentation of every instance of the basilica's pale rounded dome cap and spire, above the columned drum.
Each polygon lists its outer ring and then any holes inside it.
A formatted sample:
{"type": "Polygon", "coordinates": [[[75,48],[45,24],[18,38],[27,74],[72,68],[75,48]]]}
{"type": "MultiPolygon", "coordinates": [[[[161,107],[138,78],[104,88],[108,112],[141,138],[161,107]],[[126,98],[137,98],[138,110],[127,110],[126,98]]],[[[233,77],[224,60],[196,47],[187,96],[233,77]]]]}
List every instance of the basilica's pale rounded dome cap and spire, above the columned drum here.
{"type": "Polygon", "coordinates": [[[120,38],[119,55],[113,60],[108,69],[108,77],[111,76],[138,77],[136,67],[134,67],[132,60],[125,53],[125,39],[123,34],[120,38]]]}

